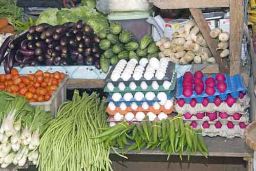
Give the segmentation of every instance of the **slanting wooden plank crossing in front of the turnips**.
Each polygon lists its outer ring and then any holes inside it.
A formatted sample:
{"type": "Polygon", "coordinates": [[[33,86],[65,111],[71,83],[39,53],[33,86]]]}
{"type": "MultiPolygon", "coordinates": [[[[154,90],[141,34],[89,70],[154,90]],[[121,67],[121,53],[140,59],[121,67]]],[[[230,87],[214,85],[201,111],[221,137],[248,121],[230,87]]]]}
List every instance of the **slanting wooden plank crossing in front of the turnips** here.
{"type": "Polygon", "coordinates": [[[199,27],[201,33],[204,36],[204,39],[212,53],[214,55],[220,70],[222,73],[228,74],[229,73],[229,65],[226,60],[221,60],[220,57],[220,52],[217,52],[217,41],[213,38],[210,37],[210,28],[208,24],[206,23],[206,20],[203,16],[203,13],[200,9],[198,8],[189,8],[191,14],[193,15],[197,26],[199,27]]]}

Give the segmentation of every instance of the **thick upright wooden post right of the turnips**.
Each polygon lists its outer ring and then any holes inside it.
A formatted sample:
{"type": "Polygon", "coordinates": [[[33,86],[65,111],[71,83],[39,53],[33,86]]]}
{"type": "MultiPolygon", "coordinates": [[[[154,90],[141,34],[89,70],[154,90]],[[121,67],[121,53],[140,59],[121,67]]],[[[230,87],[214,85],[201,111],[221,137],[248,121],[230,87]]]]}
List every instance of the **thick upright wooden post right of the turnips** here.
{"type": "Polygon", "coordinates": [[[230,75],[241,73],[241,52],[243,37],[243,0],[230,0],[230,75]]]}

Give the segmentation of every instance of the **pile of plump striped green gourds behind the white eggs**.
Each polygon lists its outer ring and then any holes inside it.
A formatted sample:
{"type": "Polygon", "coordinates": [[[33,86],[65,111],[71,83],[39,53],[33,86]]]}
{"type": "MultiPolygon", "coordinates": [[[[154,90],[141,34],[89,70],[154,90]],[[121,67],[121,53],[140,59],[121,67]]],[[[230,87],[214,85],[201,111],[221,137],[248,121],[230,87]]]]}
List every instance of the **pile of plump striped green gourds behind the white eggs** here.
{"type": "Polygon", "coordinates": [[[104,51],[100,56],[100,66],[105,73],[109,71],[110,65],[115,66],[120,59],[158,58],[159,48],[151,35],[145,35],[137,41],[134,34],[122,29],[118,22],[111,24],[108,31],[100,32],[98,36],[101,39],[99,47],[104,51]]]}

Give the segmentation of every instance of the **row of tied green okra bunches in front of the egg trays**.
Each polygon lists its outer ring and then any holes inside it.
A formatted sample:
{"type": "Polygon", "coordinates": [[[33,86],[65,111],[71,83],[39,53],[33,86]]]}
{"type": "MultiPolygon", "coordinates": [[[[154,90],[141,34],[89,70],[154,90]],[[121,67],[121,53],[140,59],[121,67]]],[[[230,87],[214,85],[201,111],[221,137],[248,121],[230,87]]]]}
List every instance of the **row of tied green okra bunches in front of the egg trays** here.
{"type": "Polygon", "coordinates": [[[182,160],[183,151],[187,153],[187,160],[197,151],[206,158],[208,155],[202,130],[195,130],[189,123],[184,123],[181,115],[153,122],[145,117],[142,122],[131,124],[123,120],[93,138],[98,138],[99,143],[104,142],[105,147],[114,151],[115,147],[120,148],[123,154],[132,150],[140,152],[143,147],[151,148],[151,151],[160,147],[168,154],[167,160],[173,153],[179,154],[182,160]]]}

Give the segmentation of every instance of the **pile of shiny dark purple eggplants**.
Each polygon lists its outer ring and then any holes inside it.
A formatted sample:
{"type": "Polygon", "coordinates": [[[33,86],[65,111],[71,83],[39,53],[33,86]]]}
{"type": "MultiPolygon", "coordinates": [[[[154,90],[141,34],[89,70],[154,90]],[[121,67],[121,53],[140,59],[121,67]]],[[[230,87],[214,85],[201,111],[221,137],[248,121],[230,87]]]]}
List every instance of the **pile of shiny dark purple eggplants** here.
{"type": "Polygon", "coordinates": [[[40,24],[13,40],[8,37],[0,48],[0,62],[4,60],[6,73],[13,66],[94,65],[99,69],[99,41],[83,20],[57,26],[40,24]]]}

